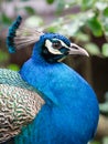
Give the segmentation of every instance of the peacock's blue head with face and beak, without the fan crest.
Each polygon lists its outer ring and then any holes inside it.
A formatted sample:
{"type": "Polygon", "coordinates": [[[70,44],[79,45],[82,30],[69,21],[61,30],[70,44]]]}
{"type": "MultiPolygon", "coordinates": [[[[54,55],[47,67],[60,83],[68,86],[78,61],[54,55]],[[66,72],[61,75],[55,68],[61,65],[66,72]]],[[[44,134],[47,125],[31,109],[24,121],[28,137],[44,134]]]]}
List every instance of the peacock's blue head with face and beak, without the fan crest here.
{"type": "Polygon", "coordinates": [[[83,48],[72,43],[66,37],[57,33],[44,33],[40,40],[41,55],[50,63],[60,62],[68,54],[87,55],[83,48]]]}

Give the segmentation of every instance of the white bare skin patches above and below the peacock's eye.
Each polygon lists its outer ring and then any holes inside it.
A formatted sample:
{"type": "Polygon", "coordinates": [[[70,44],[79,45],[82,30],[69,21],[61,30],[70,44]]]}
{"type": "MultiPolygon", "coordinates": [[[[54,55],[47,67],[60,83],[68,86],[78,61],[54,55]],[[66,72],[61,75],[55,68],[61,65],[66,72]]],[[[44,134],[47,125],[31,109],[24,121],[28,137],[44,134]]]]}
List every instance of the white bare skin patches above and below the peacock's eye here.
{"type": "MultiPolygon", "coordinates": [[[[65,47],[68,49],[68,47],[62,41],[62,40],[58,40],[58,39],[53,39],[53,40],[57,40],[61,42],[62,47],[65,47]]],[[[54,49],[53,45],[52,45],[52,42],[50,40],[46,40],[45,41],[45,47],[47,48],[47,50],[53,53],[53,54],[63,54],[58,49],[54,49]]]]}

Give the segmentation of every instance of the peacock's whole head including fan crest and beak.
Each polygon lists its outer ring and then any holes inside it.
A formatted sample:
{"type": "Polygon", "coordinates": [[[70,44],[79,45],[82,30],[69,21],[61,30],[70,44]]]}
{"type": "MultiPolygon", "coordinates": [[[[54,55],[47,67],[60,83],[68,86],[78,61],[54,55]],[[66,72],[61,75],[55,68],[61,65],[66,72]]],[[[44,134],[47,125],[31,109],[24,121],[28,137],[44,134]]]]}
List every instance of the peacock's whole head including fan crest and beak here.
{"type": "Polygon", "coordinates": [[[18,17],[9,29],[7,44],[11,53],[15,52],[17,49],[35,43],[34,55],[40,54],[48,63],[60,62],[68,54],[88,56],[86,50],[72,43],[66,37],[57,33],[43,33],[31,28],[21,28],[21,21],[22,18],[18,17]]]}

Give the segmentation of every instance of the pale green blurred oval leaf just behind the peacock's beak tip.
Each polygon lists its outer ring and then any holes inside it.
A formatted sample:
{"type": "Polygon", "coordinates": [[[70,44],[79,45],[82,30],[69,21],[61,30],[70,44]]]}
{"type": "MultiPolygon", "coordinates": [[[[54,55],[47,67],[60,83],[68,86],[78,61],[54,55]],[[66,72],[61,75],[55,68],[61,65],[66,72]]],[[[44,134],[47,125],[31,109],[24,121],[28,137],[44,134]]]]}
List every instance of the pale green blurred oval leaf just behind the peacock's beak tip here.
{"type": "Polygon", "coordinates": [[[85,49],[93,55],[99,55],[100,54],[99,48],[95,43],[85,44],[85,49]]]}

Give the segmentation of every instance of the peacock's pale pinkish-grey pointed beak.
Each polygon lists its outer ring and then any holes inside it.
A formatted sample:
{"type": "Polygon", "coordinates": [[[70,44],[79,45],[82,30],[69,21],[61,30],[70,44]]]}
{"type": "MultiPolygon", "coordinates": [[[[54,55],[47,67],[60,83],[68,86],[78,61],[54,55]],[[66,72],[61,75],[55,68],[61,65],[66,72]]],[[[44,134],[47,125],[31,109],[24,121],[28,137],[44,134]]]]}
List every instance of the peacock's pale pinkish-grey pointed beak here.
{"type": "Polygon", "coordinates": [[[78,47],[78,45],[75,44],[75,43],[71,43],[69,54],[79,54],[79,55],[89,56],[88,52],[87,52],[85,49],[78,47]]]}

